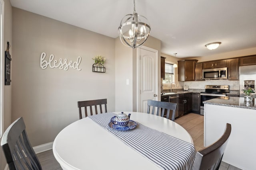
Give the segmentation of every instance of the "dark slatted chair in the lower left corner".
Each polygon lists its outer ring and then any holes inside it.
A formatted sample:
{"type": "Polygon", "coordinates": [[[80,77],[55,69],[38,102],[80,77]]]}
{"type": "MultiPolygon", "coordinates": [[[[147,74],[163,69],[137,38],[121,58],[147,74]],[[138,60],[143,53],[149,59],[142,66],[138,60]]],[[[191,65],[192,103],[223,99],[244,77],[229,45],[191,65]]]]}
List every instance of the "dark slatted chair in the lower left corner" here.
{"type": "Polygon", "coordinates": [[[42,170],[25,128],[23,118],[20,117],[6,129],[2,136],[1,147],[9,170],[42,170]]]}

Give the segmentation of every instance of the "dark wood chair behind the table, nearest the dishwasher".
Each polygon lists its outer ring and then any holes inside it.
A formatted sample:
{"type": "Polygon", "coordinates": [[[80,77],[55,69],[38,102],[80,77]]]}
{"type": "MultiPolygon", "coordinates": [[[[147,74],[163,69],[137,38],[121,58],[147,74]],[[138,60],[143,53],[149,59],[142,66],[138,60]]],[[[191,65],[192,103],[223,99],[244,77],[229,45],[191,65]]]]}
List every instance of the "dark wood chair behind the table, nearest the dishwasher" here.
{"type": "Polygon", "coordinates": [[[175,120],[175,112],[176,112],[176,103],[170,103],[170,102],[159,102],[155,100],[148,100],[148,111],[147,113],[150,113],[150,110],[152,111],[152,114],[155,114],[155,108],[156,108],[156,115],[159,115],[159,112],[161,112],[161,116],[165,117],[164,112],[166,110],[166,118],[169,119],[170,112],[172,113],[171,120],[175,120]],[[160,111],[161,110],[161,111],[160,111]]]}

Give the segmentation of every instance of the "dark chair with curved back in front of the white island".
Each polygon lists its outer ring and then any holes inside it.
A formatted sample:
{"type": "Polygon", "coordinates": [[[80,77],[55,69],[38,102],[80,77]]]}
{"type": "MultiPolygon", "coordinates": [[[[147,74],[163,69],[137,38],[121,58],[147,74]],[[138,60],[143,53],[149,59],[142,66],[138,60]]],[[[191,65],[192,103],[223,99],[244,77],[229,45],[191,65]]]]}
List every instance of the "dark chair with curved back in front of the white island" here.
{"type": "Polygon", "coordinates": [[[231,125],[226,123],[226,129],[220,139],[196,153],[193,170],[218,170],[230,133],[231,125]]]}

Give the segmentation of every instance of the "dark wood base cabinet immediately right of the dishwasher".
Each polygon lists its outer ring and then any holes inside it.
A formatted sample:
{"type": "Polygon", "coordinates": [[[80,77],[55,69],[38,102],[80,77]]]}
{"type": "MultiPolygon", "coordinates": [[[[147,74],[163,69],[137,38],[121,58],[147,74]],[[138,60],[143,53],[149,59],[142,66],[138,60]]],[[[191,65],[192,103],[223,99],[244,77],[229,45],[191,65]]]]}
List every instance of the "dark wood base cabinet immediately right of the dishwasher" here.
{"type": "Polygon", "coordinates": [[[192,93],[179,95],[179,116],[190,112],[192,109],[192,93]]]}

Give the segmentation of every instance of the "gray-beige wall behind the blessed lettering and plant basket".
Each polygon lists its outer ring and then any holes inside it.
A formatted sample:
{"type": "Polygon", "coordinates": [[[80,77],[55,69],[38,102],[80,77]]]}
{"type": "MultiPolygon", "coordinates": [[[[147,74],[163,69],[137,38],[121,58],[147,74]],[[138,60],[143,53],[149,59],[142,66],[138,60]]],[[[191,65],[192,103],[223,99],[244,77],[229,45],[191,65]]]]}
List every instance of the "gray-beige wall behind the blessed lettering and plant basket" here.
{"type": "Polygon", "coordinates": [[[115,111],[113,38],[18,8],[13,8],[12,36],[12,121],[24,117],[33,147],[54,141],[79,119],[77,101],[107,98],[108,111],[115,111]],[[48,60],[52,54],[68,61],[80,56],[82,70],[43,70],[42,52],[48,60]],[[106,73],[92,72],[95,55],[106,57],[106,73]]]}

